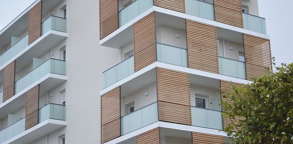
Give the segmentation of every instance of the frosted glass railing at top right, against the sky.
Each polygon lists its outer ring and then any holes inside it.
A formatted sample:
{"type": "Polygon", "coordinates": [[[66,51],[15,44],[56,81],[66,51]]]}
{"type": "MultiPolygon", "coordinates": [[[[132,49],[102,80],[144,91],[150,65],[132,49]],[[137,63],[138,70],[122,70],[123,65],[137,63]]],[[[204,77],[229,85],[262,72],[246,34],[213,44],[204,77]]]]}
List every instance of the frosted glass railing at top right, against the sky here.
{"type": "Polygon", "coordinates": [[[243,27],[247,30],[266,34],[265,19],[262,17],[243,13],[243,27]]]}

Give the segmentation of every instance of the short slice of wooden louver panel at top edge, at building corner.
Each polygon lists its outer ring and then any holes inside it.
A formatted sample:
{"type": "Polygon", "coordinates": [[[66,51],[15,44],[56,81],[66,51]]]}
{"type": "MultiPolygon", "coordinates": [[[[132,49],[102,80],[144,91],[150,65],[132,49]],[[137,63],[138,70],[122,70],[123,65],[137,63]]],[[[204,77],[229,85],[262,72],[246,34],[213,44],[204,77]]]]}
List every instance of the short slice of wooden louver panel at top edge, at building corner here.
{"type": "Polygon", "coordinates": [[[185,0],[154,0],[154,6],[185,13],[185,0]]]}

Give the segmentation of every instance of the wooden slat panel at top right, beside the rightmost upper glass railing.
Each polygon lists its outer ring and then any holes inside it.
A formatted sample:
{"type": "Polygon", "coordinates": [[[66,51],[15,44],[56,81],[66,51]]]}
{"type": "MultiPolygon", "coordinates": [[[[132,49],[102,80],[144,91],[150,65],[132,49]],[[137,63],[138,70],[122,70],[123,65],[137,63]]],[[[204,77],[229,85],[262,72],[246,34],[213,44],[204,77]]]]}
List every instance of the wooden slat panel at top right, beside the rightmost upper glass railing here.
{"type": "Polygon", "coordinates": [[[241,0],[214,0],[215,20],[243,28],[241,0]]]}

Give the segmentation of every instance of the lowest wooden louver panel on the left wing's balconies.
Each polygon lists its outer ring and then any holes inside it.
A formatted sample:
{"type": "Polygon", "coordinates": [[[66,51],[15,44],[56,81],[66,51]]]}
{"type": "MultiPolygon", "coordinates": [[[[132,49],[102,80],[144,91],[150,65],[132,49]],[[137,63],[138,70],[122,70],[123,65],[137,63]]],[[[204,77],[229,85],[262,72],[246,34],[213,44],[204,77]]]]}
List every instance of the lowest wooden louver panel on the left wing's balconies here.
{"type": "Polygon", "coordinates": [[[39,85],[26,92],[26,126],[25,130],[38,124],[39,117],[39,85]]]}

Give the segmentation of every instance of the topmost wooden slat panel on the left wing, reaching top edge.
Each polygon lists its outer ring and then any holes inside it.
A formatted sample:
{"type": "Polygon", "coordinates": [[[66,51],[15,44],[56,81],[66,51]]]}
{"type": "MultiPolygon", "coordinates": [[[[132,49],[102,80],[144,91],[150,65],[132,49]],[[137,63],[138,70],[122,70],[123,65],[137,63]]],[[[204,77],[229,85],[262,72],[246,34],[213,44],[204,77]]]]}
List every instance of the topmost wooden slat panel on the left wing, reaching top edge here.
{"type": "Polygon", "coordinates": [[[41,5],[42,1],[38,2],[29,11],[29,40],[28,44],[33,43],[41,36],[41,5]]]}

